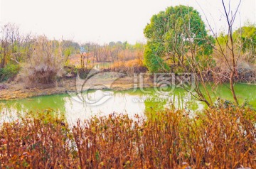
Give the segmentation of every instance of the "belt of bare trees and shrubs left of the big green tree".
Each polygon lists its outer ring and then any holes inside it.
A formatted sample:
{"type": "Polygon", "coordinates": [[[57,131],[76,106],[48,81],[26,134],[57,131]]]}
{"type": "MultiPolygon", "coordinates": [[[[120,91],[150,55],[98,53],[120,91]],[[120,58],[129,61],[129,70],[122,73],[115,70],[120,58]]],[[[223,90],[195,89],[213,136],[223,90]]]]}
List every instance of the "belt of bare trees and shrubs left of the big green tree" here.
{"type": "Polygon", "coordinates": [[[109,63],[109,67],[118,67],[128,60],[142,62],[144,55],[143,43],[100,45],[49,40],[46,36],[21,34],[18,26],[12,23],[2,26],[0,33],[0,82],[14,80],[18,75],[25,82],[49,83],[61,77],[63,67],[68,65],[88,69],[109,63]]]}

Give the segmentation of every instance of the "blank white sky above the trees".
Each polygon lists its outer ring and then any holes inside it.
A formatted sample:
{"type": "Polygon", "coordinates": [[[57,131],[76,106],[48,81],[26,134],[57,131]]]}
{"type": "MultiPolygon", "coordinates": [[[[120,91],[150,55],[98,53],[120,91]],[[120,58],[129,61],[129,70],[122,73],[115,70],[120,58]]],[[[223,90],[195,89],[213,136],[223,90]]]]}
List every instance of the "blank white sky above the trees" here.
{"type": "MultiPolygon", "coordinates": [[[[24,33],[78,43],[145,42],[143,30],[151,16],[178,4],[193,6],[215,30],[225,26],[221,0],[0,0],[0,23],[16,23],[24,33]],[[200,4],[201,8],[198,6],[200,4]],[[211,16],[210,16],[211,14],[211,16]]],[[[228,4],[228,0],[227,4],[228,4]]],[[[235,10],[238,0],[231,0],[235,10]]],[[[242,0],[235,27],[256,23],[256,0],[242,0]]]]}

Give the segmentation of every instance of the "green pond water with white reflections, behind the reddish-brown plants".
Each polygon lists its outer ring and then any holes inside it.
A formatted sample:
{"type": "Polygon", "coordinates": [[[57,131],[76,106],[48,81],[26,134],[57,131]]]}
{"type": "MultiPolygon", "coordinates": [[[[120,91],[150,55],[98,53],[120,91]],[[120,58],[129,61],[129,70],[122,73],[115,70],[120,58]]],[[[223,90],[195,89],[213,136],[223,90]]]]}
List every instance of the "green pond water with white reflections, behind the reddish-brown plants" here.
{"type": "MultiPolygon", "coordinates": [[[[216,97],[233,101],[232,94],[227,86],[225,84],[220,85],[215,89],[215,94],[211,92],[213,102],[215,102],[216,97]]],[[[166,89],[166,91],[169,90],[166,89]]],[[[240,104],[245,102],[246,99],[252,107],[256,108],[256,85],[236,84],[235,92],[240,104]]],[[[1,101],[0,122],[15,120],[18,118],[17,114],[29,113],[30,111],[36,113],[46,109],[53,109],[56,113],[63,114],[70,123],[73,123],[78,119],[88,119],[91,116],[102,116],[113,112],[129,114],[129,116],[134,116],[135,114],[147,116],[170,107],[189,109],[191,111],[201,111],[206,108],[206,104],[193,99],[191,94],[181,88],[176,88],[167,94],[154,88],[115,92],[92,90],[87,96],[89,96],[89,100],[93,101],[100,99],[100,103],[89,104],[85,101],[81,102],[78,97],[71,97],[70,94],[1,101]],[[110,96],[105,97],[104,92],[110,92],[110,96]]]]}

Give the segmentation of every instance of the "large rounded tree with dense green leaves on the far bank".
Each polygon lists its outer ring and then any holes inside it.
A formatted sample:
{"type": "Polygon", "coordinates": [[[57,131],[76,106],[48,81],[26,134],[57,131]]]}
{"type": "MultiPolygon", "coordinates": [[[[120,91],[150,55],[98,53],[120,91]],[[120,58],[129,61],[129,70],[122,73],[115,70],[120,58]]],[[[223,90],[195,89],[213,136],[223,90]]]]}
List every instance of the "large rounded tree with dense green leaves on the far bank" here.
{"type": "Polygon", "coordinates": [[[156,67],[163,68],[154,63],[183,67],[186,58],[210,55],[213,50],[213,38],[208,36],[200,14],[189,6],[171,6],[152,16],[144,35],[148,40],[145,65],[151,72],[159,71],[156,67]],[[158,61],[151,62],[155,58],[158,61]]]}

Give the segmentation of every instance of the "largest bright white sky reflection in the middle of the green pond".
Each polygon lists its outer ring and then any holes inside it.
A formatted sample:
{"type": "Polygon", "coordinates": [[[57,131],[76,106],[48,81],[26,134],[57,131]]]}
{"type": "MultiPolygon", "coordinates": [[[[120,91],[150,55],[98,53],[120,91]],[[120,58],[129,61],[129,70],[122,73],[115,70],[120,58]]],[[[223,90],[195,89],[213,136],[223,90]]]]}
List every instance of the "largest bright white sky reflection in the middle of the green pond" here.
{"type": "MultiPolygon", "coordinates": [[[[97,97],[97,91],[90,93],[91,97],[97,97]]],[[[105,103],[92,106],[90,104],[82,104],[65,97],[65,116],[70,124],[78,119],[89,119],[92,116],[105,116],[112,113],[128,114],[132,118],[135,114],[144,117],[144,102],[134,103],[134,96],[127,93],[115,93],[105,103]]]]}

